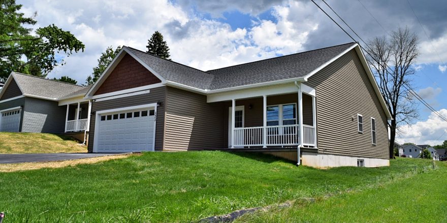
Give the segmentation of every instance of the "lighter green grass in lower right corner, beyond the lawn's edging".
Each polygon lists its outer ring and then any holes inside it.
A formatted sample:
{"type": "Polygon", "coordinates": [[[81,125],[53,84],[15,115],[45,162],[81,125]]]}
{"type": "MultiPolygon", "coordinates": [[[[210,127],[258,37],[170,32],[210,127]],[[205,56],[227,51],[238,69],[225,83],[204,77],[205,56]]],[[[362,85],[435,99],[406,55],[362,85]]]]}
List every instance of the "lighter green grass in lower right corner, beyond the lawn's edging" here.
{"type": "Polygon", "coordinates": [[[245,215],[237,222],[447,222],[447,165],[316,203],[245,215]]]}

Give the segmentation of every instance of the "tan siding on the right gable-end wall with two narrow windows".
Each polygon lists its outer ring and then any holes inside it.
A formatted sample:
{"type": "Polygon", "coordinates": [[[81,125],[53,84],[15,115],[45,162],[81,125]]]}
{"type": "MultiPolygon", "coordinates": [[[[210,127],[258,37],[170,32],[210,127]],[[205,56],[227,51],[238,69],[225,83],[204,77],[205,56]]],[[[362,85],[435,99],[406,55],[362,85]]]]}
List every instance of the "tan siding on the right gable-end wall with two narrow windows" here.
{"type": "Polygon", "coordinates": [[[316,88],[319,152],[388,158],[387,117],[354,50],[306,84],[316,88]],[[363,133],[358,133],[357,114],[363,116],[363,133]],[[376,145],[372,145],[371,117],[376,119],[376,145]]]}

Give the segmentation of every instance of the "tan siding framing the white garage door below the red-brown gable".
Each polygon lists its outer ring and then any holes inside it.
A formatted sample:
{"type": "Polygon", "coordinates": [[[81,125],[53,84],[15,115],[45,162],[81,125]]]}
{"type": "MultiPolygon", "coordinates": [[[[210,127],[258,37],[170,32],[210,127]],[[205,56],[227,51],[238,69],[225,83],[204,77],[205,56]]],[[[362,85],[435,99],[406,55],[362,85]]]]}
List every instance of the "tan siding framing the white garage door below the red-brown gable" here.
{"type": "MultiPolygon", "coordinates": [[[[117,98],[106,101],[93,102],[91,111],[97,112],[100,110],[114,109],[120,107],[129,107],[142,104],[157,103],[162,102],[162,106],[157,107],[157,120],[156,120],[156,130],[155,130],[155,151],[163,150],[163,130],[165,122],[165,94],[166,87],[159,87],[150,89],[148,94],[141,94],[130,97],[117,98]]],[[[95,116],[91,116],[90,120],[90,133],[88,143],[88,151],[93,151],[93,140],[94,140],[94,123],[95,116]]]]}

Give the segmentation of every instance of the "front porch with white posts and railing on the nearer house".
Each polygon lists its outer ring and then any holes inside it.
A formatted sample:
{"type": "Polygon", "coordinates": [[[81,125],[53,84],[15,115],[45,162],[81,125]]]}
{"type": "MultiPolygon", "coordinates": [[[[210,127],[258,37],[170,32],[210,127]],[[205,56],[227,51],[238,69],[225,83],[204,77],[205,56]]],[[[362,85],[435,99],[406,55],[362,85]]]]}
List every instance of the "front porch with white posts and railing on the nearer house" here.
{"type": "Polygon", "coordinates": [[[232,99],[226,106],[228,148],[317,148],[315,90],[305,90],[232,99]]]}

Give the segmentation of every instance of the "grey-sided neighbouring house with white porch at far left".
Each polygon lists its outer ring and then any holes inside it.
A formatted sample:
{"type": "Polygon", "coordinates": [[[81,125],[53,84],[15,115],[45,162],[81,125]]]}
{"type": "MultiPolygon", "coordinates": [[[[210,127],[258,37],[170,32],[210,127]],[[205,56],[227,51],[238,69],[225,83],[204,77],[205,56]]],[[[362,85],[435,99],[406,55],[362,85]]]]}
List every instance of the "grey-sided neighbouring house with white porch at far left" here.
{"type": "Polygon", "coordinates": [[[89,88],[12,72],[0,91],[0,131],[69,133],[83,141],[89,88]]]}

